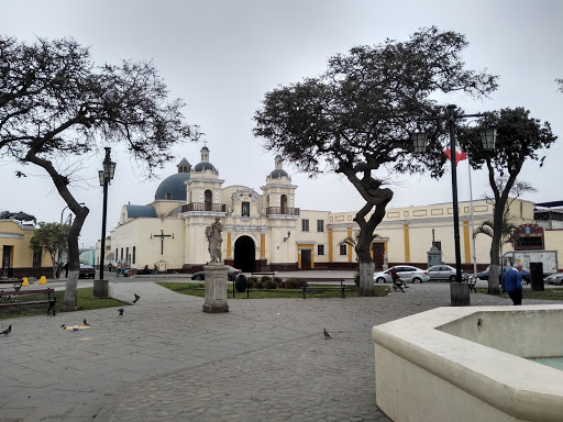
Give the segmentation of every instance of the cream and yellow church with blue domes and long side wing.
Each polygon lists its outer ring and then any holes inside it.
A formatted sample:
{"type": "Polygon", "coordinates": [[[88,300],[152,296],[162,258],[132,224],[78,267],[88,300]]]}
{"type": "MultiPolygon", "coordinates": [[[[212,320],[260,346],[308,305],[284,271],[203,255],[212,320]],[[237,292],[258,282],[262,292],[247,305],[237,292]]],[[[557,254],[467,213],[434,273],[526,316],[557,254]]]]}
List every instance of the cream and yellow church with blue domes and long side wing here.
{"type": "MultiPolygon", "coordinates": [[[[222,258],[245,273],[356,267],[354,248],[342,242],[354,238],[358,230],[355,211],[299,209],[297,186],[279,156],[260,192],[224,186],[209,153],[203,147],[195,166],[184,158],[178,173],[157,188],[153,202],[122,207],[120,223],[106,242],[106,263],[128,262],[133,270],[154,265],[161,271],[199,270],[210,259],[206,227],[219,218],[222,258]]],[[[490,237],[478,235],[474,243],[472,233],[493,219],[493,206],[474,201],[472,213],[472,204],[461,202],[459,210],[462,264],[473,268],[475,256],[482,268],[489,262],[490,237]]],[[[442,252],[443,263],[454,264],[452,213],[451,203],[389,208],[372,244],[376,268],[384,260],[389,266],[408,263],[426,268],[432,244],[442,252]]],[[[508,216],[515,225],[533,224],[533,203],[514,200],[508,216]]]]}

